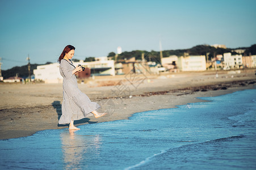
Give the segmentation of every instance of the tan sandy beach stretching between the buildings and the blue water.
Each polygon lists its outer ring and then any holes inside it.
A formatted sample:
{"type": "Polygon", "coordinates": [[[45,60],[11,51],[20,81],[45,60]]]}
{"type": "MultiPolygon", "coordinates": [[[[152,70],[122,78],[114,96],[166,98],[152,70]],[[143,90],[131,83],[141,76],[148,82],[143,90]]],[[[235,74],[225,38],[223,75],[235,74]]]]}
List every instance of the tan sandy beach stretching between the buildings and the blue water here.
{"type": "MultiPolygon", "coordinates": [[[[255,88],[256,69],[160,75],[118,75],[78,81],[79,89],[108,112],[101,118],[84,118],[75,125],[127,119],[133,113],[174,108],[218,96],[255,88]],[[117,84],[117,85],[115,85],[117,84]],[[108,85],[108,86],[106,86],[108,85]],[[110,86],[112,85],[112,86],[110,86]]],[[[61,115],[62,84],[0,84],[0,139],[26,137],[58,125],[61,115]]]]}

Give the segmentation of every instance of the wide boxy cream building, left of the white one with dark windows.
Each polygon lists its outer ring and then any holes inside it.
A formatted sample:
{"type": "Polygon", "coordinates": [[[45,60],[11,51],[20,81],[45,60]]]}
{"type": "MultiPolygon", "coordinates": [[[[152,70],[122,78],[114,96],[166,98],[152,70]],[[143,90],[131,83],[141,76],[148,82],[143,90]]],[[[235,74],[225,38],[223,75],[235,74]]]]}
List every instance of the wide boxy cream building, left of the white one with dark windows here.
{"type": "Polygon", "coordinates": [[[181,71],[205,71],[205,56],[181,56],[178,58],[178,69],[181,71]]]}

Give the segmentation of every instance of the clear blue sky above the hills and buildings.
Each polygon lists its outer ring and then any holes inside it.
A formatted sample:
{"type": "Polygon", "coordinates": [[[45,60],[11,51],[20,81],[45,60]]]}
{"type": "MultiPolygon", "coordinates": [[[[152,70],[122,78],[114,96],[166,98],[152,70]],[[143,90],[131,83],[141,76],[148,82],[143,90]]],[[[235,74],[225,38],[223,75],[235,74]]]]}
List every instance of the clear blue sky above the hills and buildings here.
{"type": "Polygon", "coordinates": [[[1,0],[2,69],[56,62],[68,44],[76,59],[124,51],[228,48],[256,44],[256,1],[1,0]]]}

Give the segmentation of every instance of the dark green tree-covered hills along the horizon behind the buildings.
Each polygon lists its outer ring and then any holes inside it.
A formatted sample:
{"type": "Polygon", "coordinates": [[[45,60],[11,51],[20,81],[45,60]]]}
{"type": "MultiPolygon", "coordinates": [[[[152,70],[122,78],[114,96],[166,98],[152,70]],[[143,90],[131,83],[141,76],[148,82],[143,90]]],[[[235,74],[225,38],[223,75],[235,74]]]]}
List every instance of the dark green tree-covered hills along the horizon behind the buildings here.
{"type": "MultiPolygon", "coordinates": [[[[196,45],[190,49],[177,49],[177,50],[163,50],[162,54],[163,57],[169,57],[172,55],[175,56],[183,56],[184,53],[189,53],[190,55],[204,55],[206,56],[208,53],[209,59],[213,58],[217,54],[223,54],[223,53],[232,53],[237,54],[236,52],[233,52],[235,49],[245,49],[244,55],[256,55],[256,44],[251,45],[250,47],[241,47],[241,48],[215,48],[210,45],[196,45]]],[[[157,63],[160,63],[160,52],[156,52],[152,50],[151,52],[148,52],[146,50],[133,50],[131,52],[123,52],[118,55],[117,60],[124,61],[125,59],[129,59],[131,57],[135,57],[136,59],[141,59],[141,54],[144,53],[144,58],[146,61],[154,61],[157,63]]],[[[115,53],[110,52],[108,54],[108,57],[114,57],[115,53]]],[[[87,57],[85,61],[94,61],[94,57],[87,57]]],[[[51,62],[47,62],[45,64],[49,64],[51,62]]],[[[31,75],[33,74],[33,70],[36,69],[36,67],[39,66],[39,64],[31,64],[31,75]]],[[[16,74],[20,77],[26,78],[28,77],[28,66],[16,66],[12,67],[9,70],[2,70],[2,76],[4,79],[9,78],[11,76],[16,76],[16,74]]]]}

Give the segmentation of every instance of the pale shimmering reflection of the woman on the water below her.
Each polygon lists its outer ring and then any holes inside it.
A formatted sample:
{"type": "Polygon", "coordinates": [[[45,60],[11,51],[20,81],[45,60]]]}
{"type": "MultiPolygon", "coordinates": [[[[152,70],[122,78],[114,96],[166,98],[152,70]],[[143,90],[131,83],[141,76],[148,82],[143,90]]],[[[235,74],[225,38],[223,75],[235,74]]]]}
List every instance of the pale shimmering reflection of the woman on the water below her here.
{"type": "Polygon", "coordinates": [[[65,169],[89,168],[86,162],[99,157],[99,135],[83,135],[78,130],[65,130],[60,134],[60,139],[65,169]]]}

